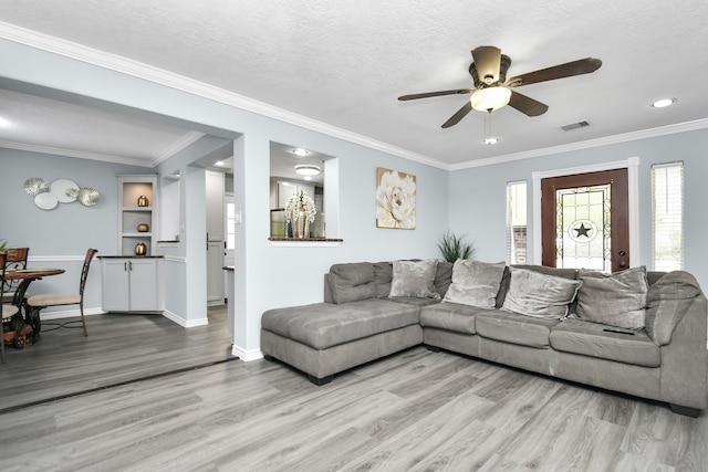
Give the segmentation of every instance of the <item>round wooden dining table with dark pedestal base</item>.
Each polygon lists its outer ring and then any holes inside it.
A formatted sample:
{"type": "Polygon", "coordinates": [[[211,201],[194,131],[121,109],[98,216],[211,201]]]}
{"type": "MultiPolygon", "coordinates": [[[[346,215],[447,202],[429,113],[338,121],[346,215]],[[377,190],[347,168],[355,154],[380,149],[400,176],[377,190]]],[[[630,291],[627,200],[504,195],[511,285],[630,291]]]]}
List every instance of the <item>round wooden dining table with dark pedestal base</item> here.
{"type": "Polygon", "coordinates": [[[27,268],[27,269],[8,269],[4,273],[6,281],[20,281],[17,290],[12,296],[12,304],[15,305],[19,311],[12,317],[12,329],[8,329],[3,333],[4,343],[6,339],[12,346],[22,348],[24,346],[34,344],[39,339],[42,324],[40,322],[39,314],[32,315],[32,311],[27,303],[27,294],[30,284],[33,281],[42,280],[43,277],[63,274],[64,270],[61,268],[27,268]],[[24,316],[23,316],[24,315],[24,316]]]}

